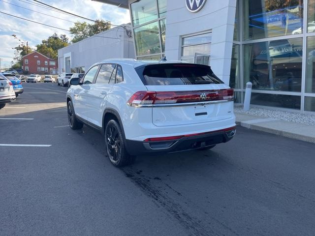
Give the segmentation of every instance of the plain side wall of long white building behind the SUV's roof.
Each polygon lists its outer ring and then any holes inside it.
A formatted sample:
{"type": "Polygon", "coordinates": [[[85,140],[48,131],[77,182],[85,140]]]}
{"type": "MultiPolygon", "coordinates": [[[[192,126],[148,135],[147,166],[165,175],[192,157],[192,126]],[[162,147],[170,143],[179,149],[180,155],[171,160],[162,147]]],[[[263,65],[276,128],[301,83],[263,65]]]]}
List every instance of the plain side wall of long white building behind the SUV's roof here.
{"type": "MultiPolygon", "coordinates": [[[[129,25],[122,25],[130,29],[129,25]]],[[[85,67],[87,71],[94,63],[112,58],[135,58],[134,50],[129,50],[133,39],[126,35],[121,27],[86,38],[68,47],[58,50],[59,72],[64,70],[64,59],[71,55],[71,68],[85,67]],[[105,38],[107,37],[107,38],[105,38]]]]}

